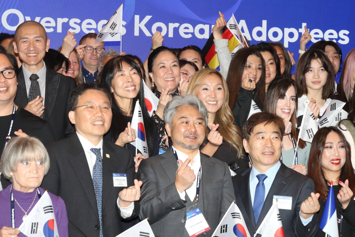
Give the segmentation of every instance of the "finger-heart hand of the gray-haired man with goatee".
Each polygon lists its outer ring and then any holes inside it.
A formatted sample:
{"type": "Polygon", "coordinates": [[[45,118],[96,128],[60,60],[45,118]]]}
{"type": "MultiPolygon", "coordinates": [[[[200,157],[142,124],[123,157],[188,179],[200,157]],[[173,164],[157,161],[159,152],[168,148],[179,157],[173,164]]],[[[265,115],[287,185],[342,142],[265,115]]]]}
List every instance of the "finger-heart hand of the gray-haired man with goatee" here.
{"type": "Polygon", "coordinates": [[[190,157],[187,157],[186,161],[182,163],[181,160],[178,160],[179,167],[175,174],[175,186],[180,193],[184,192],[186,189],[189,189],[193,184],[193,181],[196,179],[196,175],[193,173],[189,165],[190,157]]]}

